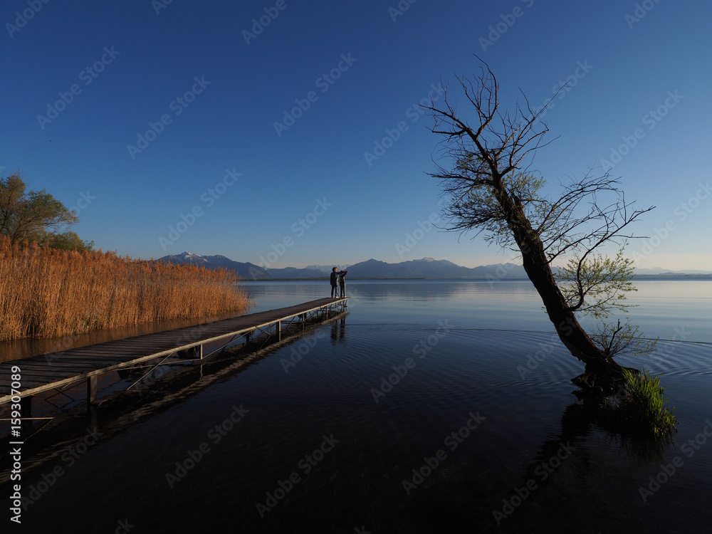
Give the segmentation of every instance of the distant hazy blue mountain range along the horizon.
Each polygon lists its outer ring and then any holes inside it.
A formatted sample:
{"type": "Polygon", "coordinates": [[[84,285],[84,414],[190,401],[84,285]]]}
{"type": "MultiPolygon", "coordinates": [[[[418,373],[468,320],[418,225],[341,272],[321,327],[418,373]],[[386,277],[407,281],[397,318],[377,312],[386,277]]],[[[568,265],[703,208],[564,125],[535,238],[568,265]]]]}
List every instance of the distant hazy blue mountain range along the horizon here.
{"type": "MultiPolygon", "coordinates": [[[[325,279],[333,266],[310,265],[305,268],[263,268],[254,263],[241,263],[225,256],[201,256],[192,252],[182,252],[172,256],[164,256],[157,261],[171,263],[192,263],[206,268],[228,268],[237,271],[244,280],[269,280],[269,279],[325,279]]],[[[431,280],[442,279],[501,279],[520,280],[527,278],[523,266],[515,263],[496,263],[494,265],[479,266],[474,268],[462,267],[447,260],[422,258],[421,260],[402,261],[400,263],[386,263],[370,259],[355,263],[351,266],[341,266],[349,271],[349,278],[392,280],[397,278],[427,278],[431,280]]],[[[652,269],[636,269],[637,276],[690,276],[712,275],[711,271],[666,271],[656,267],[652,269]]]]}

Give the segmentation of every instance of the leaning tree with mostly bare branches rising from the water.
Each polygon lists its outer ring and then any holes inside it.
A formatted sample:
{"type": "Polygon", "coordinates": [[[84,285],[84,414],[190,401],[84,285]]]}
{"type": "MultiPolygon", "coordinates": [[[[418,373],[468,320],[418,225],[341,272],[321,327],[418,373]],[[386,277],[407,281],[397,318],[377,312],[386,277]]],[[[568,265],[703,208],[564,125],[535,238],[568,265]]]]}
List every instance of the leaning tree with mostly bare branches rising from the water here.
{"type": "Polygon", "coordinates": [[[587,333],[577,314],[605,319],[627,308],[633,268],[623,247],[634,237],[629,225],[653,208],[632,209],[617,179],[592,172],[548,199],[543,178],[530,171],[535,151],[549,143],[543,110],[532,110],[525,97],[512,112],[501,110],[498,83],[486,64],[479,75],[458,82],[469,115],[457,110],[446,85],[444,104],[426,106],[449,162],[431,174],[448,199],[447,229],[483,232],[488,241],[521,254],[560,340],[586,365],[577,384],[609,390],[622,370],[613,357],[649,352],[653,343],[627,321],[604,322],[587,333]],[[611,244],[617,246],[612,257],[604,254],[611,244]],[[553,271],[554,262],[565,266],[553,271]]]}

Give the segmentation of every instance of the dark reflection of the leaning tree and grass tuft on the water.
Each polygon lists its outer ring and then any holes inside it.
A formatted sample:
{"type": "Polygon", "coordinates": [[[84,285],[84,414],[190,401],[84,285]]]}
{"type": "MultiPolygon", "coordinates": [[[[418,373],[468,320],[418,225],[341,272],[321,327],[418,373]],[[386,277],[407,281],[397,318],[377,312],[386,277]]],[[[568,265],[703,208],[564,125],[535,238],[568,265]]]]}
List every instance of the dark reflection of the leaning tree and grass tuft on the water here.
{"type": "MultiPolygon", "coordinates": [[[[498,503],[493,518],[500,523],[506,520],[513,531],[532,533],[567,532],[572,525],[579,525],[579,532],[591,533],[637,528],[676,531],[655,520],[631,523],[630,515],[639,507],[631,506],[629,495],[621,491],[637,487],[630,466],[658,466],[673,446],[670,436],[621,434],[601,422],[595,401],[574,402],[562,414],[560,433],[543,442],[526,467],[522,482],[498,503]],[[604,442],[614,446],[603,451],[592,439],[595,434],[602,434],[604,442]],[[620,454],[615,454],[615,445],[620,454]],[[619,492],[621,498],[617,498],[619,492]]],[[[640,501],[640,508],[643,504],[640,501]]],[[[676,526],[683,523],[671,519],[676,526]]]]}

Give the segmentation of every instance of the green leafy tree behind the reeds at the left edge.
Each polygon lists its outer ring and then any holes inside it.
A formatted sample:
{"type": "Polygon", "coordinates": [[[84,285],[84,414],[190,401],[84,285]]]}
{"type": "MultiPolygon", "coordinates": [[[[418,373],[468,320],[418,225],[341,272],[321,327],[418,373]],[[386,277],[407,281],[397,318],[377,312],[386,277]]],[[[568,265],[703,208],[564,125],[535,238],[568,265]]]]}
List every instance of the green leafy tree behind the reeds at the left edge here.
{"type": "Polygon", "coordinates": [[[92,250],[93,241],[83,241],[67,229],[78,221],[74,211],[45,189],[27,191],[19,172],[0,178],[0,235],[12,244],[27,240],[63,250],[92,250]]]}

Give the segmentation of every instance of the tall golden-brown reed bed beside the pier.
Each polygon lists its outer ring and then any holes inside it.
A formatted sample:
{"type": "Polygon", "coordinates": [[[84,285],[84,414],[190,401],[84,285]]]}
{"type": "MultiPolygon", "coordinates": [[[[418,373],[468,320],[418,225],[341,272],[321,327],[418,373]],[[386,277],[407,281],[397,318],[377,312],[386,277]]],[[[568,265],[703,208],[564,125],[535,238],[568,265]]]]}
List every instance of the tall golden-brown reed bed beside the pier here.
{"type": "Polygon", "coordinates": [[[241,313],[236,271],[63,251],[0,236],[0,341],[241,313]]]}

